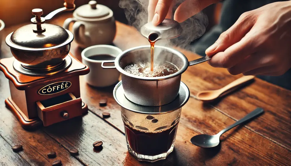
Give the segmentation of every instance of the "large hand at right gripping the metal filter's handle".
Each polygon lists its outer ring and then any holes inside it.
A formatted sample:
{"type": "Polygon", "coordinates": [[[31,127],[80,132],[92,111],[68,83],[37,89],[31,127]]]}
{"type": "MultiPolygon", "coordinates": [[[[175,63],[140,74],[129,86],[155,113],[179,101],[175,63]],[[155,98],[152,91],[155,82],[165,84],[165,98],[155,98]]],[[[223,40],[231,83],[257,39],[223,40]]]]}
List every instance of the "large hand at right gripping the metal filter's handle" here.
{"type": "Polygon", "coordinates": [[[230,74],[279,76],[291,68],[291,1],[243,13],[205,53],[230,74]]]}

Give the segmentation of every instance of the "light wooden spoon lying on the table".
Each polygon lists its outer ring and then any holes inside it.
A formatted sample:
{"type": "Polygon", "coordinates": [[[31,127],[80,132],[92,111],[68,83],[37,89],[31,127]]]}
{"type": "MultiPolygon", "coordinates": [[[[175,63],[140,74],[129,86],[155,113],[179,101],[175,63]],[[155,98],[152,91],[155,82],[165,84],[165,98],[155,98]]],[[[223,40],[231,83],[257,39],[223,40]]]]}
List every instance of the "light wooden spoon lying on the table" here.
{"type": "Polygon", "coordinates": [[[229,92],[235,90],[239,87],[239,85],[242,85],[243,83],[246,83],[247,81],[252,80],[255,78],[255,76],[242,76],[241,78],[238,78],[237,80],[233,81],[232,83],[226,85],[225,87],[218,89],[218,90],[205,90],[198,92],[197,99],[201,101],[213,101],[214,99],[217,99],[218,97],[222,97],[229,92]],[[231,90],[230,90],[231,89],[231,90]]]}

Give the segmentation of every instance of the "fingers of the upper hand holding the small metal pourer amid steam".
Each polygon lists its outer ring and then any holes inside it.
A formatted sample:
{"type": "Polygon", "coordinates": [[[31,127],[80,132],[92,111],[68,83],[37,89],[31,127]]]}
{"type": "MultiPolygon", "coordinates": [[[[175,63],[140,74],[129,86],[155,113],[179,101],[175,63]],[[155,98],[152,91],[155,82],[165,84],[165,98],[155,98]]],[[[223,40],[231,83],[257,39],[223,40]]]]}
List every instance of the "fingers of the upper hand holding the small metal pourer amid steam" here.
{"type": "MultiPolygon", "coordinates": [[[[171,18],[172,8],[176,2],[177,0],[149,0],[148,22],[152,21],[152,24],[157,26],[165,18],[171,18]]],[[[175,11],[174,20],[183,22],[216,2],[219,0],[185,0],[175,11]]]]}

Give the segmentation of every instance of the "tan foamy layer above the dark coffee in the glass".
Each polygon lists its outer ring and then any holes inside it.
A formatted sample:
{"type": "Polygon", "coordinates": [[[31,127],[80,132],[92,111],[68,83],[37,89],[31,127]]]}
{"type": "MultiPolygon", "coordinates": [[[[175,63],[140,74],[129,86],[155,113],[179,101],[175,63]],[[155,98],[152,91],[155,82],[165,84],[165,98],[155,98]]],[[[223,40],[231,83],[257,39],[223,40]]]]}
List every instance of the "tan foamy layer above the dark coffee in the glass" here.
{"type": "Polygon", "coordinates": [[[181,108],[170,113],[151,115],[158,120],[156,123],[153,123],[152,119],[147,119],[147,114],[135,113],[125,108],[121,108],[121,114],[123,122],[131,128],[145,133],[159,133],[166,131],[179,122],[181,108]],[[146,128],[147,130],[141,128],[146,128]]]}

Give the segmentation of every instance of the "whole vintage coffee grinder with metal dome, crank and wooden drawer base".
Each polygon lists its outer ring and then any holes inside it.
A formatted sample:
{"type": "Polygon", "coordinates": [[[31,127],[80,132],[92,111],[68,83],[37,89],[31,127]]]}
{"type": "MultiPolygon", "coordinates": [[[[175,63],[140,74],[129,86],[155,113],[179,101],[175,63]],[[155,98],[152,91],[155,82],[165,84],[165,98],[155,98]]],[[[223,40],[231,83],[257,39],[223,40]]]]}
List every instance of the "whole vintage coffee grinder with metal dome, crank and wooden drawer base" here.
{"type": "Polygon", "coordinates": [[[41,17],[42,9],[33,9],[32,24],[6,37],[13,57],[0,60],[11,93],[5,103],[25,129],[88,112],[80,98],[79,76],[90,69],[69,52],[74,36],[60,26],[44,24],[60,12],[73,10],[74,0],[65,0],[64,6],[46,17],[41,17]]]}

